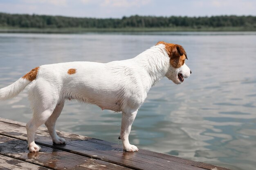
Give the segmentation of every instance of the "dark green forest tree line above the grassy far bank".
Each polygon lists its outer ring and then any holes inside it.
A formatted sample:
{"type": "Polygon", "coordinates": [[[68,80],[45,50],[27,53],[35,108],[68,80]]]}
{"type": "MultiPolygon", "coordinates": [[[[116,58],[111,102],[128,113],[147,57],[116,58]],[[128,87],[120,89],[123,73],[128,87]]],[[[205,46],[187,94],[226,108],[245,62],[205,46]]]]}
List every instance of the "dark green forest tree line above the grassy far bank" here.
{"type": "Polygon", "coordinates": [[[0,27],[20,28],[157,28],[157,27],[246,27],[256,28],[256,16],[156,17],[133,15],[123,18],[74,18],[51,15],[0,13],[0,27]]]}

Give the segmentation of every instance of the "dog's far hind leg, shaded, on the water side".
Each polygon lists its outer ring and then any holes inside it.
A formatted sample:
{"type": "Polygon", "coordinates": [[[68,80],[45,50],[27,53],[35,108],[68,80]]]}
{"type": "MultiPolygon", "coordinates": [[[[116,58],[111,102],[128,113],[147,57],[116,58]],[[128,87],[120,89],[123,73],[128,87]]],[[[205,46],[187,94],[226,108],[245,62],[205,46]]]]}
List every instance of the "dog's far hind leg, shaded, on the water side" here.
{"type": "Polygon", "coordinates": [[[49,117],[49,119],[45,122],[45,126],[47,127],[49,134],[52,137],[52,141],[54,144],[65,144],[65,139],[58,137],[56,130],[55,130],[55,123],[58,119],[59,115],[61,114],[61,111],[64,107],[65,100],[61,100],[56,108],[54,109],[52,115],[49,117]]]}

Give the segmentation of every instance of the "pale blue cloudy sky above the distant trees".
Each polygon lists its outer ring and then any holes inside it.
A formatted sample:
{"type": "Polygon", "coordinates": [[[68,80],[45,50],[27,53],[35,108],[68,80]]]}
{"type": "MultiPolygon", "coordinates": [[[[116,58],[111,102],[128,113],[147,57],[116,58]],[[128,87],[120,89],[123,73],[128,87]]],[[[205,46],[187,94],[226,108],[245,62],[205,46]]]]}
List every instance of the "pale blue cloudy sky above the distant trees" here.
{"type": "Polygon", "coordinates": [[[256,15],[256,0],[0,0],[0,12],[72,17],[256,15]]]}

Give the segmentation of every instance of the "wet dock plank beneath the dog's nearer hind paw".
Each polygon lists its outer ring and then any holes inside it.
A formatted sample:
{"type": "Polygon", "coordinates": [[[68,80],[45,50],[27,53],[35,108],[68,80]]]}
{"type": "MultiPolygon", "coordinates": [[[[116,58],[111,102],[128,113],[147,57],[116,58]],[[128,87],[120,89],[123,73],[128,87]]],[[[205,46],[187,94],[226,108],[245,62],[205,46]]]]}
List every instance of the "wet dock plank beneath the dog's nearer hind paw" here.
{"type": "Polygon", "coordinates": [[[0,135],[0,154],[55,170],[87,170],[88,168],[94,170],[129,169],[106,161],[83,157],[46,146],[42,146],[41,152],[29,153],[27,141],[2,135],[0,135]]]}

